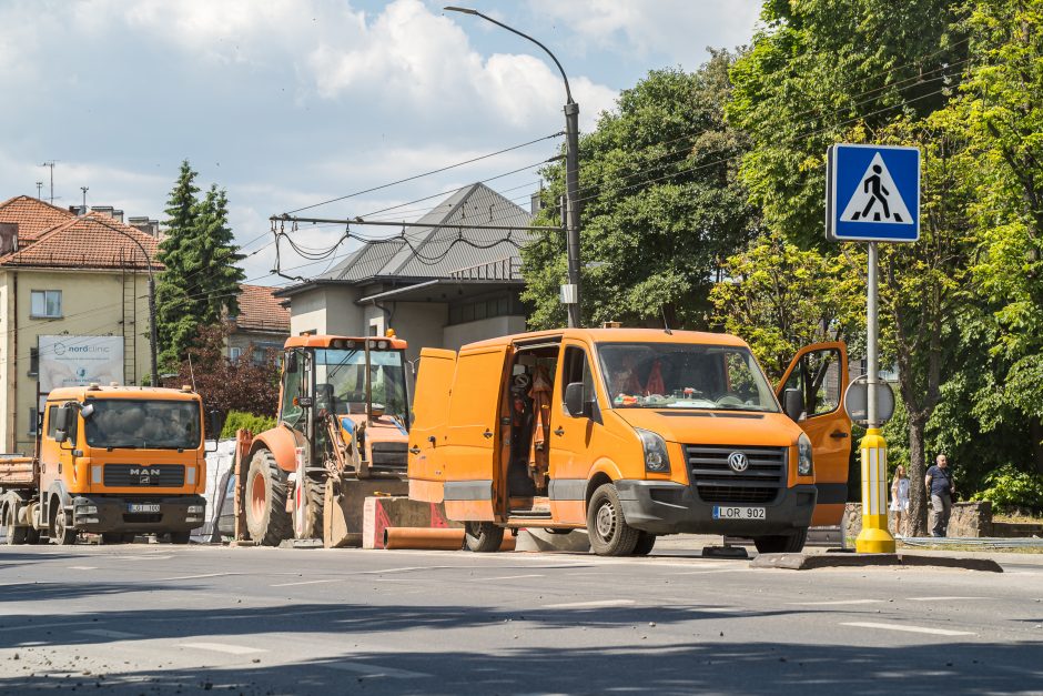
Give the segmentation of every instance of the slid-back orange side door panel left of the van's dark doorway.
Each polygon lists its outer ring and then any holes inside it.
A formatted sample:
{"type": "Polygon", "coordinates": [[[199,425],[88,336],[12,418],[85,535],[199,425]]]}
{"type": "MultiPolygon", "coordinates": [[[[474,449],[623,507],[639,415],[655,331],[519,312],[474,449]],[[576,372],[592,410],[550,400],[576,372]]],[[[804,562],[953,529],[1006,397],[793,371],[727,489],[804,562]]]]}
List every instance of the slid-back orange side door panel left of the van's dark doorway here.
{"type": "MultiPolygon", "coordinates": [[[[503,485],[499,402],[509,352],[509,344],[489,345],[460,351],[456,360],[446,441],[437,458],[445,473],[445,512],[450,520],[496,518],[496,492],[503,485]]],[[[421,373],[423,379],[423,367],[421,373]]]]}

